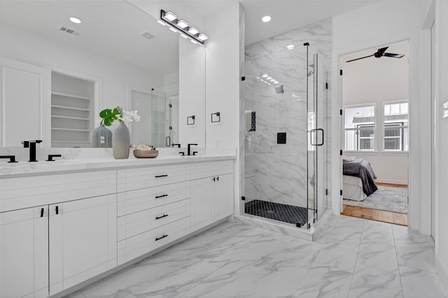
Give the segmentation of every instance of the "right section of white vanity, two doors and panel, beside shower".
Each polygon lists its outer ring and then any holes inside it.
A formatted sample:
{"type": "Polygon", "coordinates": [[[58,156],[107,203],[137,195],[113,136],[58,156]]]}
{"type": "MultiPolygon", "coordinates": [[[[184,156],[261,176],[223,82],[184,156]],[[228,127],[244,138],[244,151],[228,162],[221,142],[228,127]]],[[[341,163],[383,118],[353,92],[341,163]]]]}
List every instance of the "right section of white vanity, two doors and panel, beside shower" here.
{"type": "Polygon", "coordinates": [[[233,213],[233,162],[198,162],[191,165],[192,231],[233,213]]]}

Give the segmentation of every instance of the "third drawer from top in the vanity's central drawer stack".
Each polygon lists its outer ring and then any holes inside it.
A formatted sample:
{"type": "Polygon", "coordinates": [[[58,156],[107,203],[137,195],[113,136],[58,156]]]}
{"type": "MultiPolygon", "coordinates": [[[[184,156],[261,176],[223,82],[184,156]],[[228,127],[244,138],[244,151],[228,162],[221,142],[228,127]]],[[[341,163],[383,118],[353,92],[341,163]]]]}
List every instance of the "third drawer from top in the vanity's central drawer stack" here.
{"type": "Polygon", "coordinates": [[[190,199],[176,201],[118,218],[118,241],[190,216],[190,199]]]}

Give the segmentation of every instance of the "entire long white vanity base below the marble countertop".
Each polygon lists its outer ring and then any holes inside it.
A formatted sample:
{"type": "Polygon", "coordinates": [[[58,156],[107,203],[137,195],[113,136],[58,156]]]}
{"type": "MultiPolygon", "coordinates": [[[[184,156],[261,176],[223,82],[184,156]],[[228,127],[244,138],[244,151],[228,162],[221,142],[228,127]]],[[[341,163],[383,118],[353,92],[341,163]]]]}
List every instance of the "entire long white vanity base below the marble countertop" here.
{"type": "Polygon", "coordinates": [[[0,178],[1,298],[62,295],[233,213],[233,160],[127,162],[0,178]]]}

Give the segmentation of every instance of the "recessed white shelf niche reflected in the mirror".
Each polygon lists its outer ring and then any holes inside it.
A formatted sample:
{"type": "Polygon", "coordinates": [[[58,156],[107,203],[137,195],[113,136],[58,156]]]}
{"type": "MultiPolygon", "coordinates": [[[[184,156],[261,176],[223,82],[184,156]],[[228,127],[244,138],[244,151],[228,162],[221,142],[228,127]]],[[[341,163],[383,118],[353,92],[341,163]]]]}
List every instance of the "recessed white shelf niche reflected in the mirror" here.
{"type": "Polygon", "coordinates": [[[90,147],[94,82],[51,73],[52,147],[90,147]]]}

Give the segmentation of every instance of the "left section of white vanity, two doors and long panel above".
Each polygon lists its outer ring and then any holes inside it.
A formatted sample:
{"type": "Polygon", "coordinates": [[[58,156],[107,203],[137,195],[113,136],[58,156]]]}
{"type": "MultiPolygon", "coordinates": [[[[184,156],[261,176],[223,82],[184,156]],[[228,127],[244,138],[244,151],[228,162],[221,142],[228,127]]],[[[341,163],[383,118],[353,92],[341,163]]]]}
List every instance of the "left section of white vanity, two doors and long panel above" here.
{"type": "Polygon", "coordinates": [[[115,192],[116,171],[0,179],[1,297],[48,297],[116,267],[115,192]]]}

